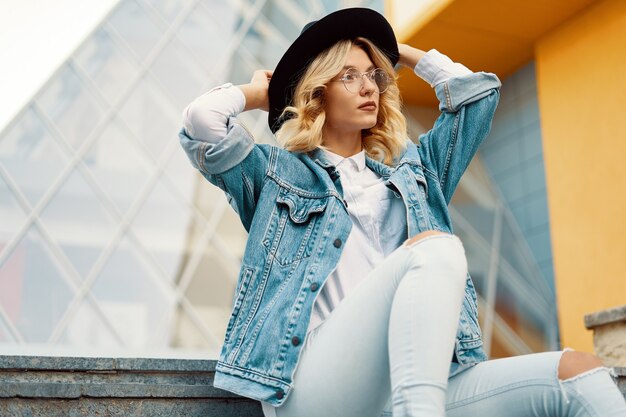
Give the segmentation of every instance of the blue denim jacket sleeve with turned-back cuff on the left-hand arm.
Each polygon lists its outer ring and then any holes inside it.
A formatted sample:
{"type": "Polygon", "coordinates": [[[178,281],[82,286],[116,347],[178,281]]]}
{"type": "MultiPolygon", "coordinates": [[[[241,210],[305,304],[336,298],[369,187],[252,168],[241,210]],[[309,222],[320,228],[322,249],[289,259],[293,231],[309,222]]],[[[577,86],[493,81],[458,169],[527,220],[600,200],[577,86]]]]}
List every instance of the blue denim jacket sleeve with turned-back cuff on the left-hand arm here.
{"type": "Polygon", "coordinates": [[[179,139],[194,168],[224,191],[249,231],[265,183],[271,147],[256,144],[235,117],[228,119],[226,136],[215,143],[195,140],[185,128],[180,130],[179,139]]]}

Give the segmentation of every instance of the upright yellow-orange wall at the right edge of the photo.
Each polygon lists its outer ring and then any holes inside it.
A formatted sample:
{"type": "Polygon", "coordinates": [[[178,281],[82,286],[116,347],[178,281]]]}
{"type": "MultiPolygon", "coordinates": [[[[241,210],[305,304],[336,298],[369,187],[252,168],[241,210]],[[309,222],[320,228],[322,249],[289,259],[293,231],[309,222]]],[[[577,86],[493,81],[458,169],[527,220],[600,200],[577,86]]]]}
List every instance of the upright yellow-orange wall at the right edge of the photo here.
{"type": "Polygon", "coordinates": [[[542,38],[536,67],[561,340],[593,351],[584,314],[626,303],[626,1],[542,38]]]}

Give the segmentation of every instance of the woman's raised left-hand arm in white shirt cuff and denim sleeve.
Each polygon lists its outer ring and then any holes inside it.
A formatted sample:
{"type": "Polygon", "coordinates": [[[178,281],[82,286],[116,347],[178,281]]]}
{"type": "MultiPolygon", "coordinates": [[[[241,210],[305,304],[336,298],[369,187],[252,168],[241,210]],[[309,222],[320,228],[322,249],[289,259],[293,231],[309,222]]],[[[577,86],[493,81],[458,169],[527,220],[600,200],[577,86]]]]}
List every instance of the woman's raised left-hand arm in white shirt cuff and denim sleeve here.
{"type": "Polygon", "coordinates": [[[265,182],[269,148],[256,145],[236,116],[246,110],[267,110],[271,74],[258,70],[248,84],[224,84],[198,97],[183,112],[179,132],[191,164],[224,191],[246,230],[265,182]]]}

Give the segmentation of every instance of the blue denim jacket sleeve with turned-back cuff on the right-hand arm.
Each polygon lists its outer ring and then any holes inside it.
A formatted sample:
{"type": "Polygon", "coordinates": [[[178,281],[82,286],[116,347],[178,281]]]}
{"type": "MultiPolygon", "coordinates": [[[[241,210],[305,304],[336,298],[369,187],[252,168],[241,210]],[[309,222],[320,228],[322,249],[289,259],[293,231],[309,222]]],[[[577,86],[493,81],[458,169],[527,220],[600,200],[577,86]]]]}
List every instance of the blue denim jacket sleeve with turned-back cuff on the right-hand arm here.
{"type": "Polygon", "coordinates": [[[436,175],[446,204],[478,146],[489,133],[499,99],[500,80],[477,72],[453,77],[435,86],[441,115],[420,136],[420,157],[436,175]]]}

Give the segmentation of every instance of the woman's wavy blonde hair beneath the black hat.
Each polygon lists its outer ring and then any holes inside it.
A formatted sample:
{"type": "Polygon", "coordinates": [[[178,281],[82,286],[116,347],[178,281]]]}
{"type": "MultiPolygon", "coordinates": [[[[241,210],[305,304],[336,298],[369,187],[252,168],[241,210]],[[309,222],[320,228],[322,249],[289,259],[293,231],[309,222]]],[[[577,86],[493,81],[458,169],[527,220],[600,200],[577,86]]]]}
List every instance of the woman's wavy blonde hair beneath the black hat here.
{"type": "Polygon", "coordinates": [[[391,77],[389,87],[380,95],[376,125],[361,131],[367,156],[391,166],[405,151],[409,140],[406,118],[401,111],[398,77],[387,56],[365,38],[339,41],[311,62],[296,86],[292,105],[287,106],[281,114],[288,120],[276,132],[276,139],[282,147],[292,152],[325,148],[322,128],[326,120],[326,84],[342,71],[352,45],[363,49],[374,65],[391,77]]]}

